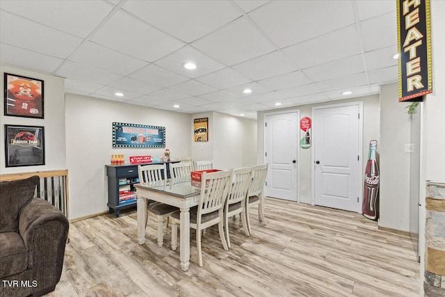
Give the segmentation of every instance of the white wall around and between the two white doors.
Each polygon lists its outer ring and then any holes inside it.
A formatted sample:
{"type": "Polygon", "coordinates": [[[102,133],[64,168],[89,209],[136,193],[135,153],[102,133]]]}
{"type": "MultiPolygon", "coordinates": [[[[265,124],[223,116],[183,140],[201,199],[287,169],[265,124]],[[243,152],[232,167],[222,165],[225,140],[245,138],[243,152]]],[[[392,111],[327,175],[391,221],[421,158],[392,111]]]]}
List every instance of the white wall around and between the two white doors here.
{"type": "MultiPolygon", "coordinates": [[[[286,111],[295,110],[300,111],[300,118],[309,117],[312,119],[312,107],[324,106],[330,104],[340,104],[346,102],[363,102],[363,168],[366,167],[366,161],[368,157],[369,141],[375,139],[380,141],[379,127],[380,127],[380,113],[379,113],[379,97],[378,95],[358,97],[352,99],[339,100],[335,102],[323,102],[318,104],[307,104],[302,106],[293,106],[287,109],[274,109],[273,111],[286,111]]],[[[264,162],[264,113],[268,111],[259,112],[257,116],[257,163],[264,162]]],[[[300,138],[300,127],[296,127],[296,133],[300,138]]],[[[310,149],[303,150],[298,146],[300,150],[300,202],[311,204],[312,203],[312,169],[313,164],[311,161],[312,152],[310,149]]],[[[379,150],[379,147],[378,147],[379,150]]]]}

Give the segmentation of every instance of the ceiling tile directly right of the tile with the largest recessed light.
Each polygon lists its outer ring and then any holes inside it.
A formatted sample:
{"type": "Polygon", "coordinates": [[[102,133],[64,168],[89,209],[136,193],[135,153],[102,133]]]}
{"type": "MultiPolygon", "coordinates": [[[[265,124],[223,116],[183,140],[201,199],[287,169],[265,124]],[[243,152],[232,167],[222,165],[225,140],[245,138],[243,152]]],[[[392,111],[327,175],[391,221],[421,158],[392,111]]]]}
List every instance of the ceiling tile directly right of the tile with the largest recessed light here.
{"type": "Polygon", "coordinates": [[[292,61],[284,56],[281,51],[274,51],[270,54],[234,65],[232,69],[254,81],[258,81],[260,79],[267,79],[296,71],[297,67],[293,65],[292,61]]]}

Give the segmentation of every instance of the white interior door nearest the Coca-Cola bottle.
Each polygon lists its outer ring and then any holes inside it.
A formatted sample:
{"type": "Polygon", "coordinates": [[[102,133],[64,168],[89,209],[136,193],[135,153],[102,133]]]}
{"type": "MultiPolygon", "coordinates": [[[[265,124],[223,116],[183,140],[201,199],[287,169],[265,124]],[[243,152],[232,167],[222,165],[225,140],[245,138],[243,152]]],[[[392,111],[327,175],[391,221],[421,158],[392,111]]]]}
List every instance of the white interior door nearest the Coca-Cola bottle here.
{"type": "Polygon", "coordinates": [[[314,204],[360,212],[359,104],[314,108],[314,204]]]}

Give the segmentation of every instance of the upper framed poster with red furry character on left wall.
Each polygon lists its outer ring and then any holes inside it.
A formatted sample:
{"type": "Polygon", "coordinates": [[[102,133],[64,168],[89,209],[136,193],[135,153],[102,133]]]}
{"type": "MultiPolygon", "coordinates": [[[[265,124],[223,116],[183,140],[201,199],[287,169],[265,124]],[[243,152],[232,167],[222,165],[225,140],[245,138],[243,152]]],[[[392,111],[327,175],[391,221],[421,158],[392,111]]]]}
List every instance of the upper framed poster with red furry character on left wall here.
{"type": "Polygon", "coordinates": [[[4,74],[5,115],[44,118],[44,81],[17,74],[4,74]]]}

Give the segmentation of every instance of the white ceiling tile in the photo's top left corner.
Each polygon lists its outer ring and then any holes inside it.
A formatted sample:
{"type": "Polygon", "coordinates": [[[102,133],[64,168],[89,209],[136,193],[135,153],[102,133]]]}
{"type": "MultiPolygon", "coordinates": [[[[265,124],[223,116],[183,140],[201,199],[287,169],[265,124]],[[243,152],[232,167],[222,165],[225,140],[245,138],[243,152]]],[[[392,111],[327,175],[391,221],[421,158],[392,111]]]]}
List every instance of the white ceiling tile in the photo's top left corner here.
{"type": "Polygon", "coordinates": [[[111,12],[105,1],[1,1],[1,9],[86,38],[111,12]],[[81,15],[81,22],[79,22],[81,15]]]}

